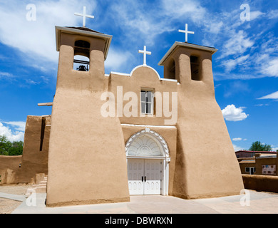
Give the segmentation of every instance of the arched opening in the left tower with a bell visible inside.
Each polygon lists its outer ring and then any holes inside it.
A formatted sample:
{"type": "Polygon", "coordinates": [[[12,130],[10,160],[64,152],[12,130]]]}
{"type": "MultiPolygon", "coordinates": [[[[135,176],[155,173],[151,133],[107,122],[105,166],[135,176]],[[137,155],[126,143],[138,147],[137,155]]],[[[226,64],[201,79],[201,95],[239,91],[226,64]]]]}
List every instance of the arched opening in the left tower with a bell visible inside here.
{"type": "Polygon", "coordinates": [[[90,66],[90,43],[76,41],[74,43],[73,70],[89,71],[90,66]]]}

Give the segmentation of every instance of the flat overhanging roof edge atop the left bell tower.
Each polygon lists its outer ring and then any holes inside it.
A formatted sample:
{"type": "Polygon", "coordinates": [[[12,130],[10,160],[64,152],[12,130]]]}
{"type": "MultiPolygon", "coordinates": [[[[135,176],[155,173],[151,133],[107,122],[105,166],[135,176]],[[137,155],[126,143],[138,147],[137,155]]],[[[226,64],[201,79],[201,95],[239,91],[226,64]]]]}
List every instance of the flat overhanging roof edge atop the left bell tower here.
{"type": "Polygon", "coordinates": [[[78,34],[81,36],[96,37],[96,38],[102,38],[103,40],[105,40],[104,59],[107,58],[108,51],[110,48],[110,43],[111,43],[113,36],[106,35],[104,33],[94,31],[90,28],[83,28],[83,27],[55,26],[55,30],[56,30],[56,51],[60,51],[61,33],[78,34]]]}

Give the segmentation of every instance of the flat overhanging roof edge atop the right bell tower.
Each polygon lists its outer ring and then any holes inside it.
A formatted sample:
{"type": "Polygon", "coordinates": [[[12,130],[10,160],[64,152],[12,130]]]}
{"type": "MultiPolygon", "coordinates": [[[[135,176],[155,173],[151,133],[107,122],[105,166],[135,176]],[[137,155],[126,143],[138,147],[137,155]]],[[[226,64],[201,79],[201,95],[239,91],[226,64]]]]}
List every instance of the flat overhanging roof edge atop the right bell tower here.
{"type": "Polygon", "coordinates": [[[177,42],[176,41],[173,44],[173,46],[169,49],[169,51],[165,54],[165,56],[163,56],[163,58],[160,60],[160,62],[158,63],[159,66],[164,66],[165,61],[170,56],[170,54],[173,53],[173,51],[175,51],[177,46],[183,46],[183,47],[186,47],[186,48],[198,49],[198,50],[201,50],[201,51],[209,51],[210,53],[212,53],[212,55],[215,52],[218,51],[217,48],[212,48],[212,47],[207,47],[207,46],[200,46],[200,45],[193,44],[193,43],[185,43],[185,42],[177,42]]]}

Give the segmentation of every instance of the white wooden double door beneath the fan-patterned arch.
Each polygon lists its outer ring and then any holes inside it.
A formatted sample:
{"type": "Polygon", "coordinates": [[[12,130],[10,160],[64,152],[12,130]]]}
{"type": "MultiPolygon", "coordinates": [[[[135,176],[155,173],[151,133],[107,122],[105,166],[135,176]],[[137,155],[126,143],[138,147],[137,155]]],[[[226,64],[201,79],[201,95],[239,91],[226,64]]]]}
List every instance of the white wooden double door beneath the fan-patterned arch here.
{"type": "Polygon", "coordinates": [[[128,159],[130,195],[160,195],[162,160],[128,159]]]}

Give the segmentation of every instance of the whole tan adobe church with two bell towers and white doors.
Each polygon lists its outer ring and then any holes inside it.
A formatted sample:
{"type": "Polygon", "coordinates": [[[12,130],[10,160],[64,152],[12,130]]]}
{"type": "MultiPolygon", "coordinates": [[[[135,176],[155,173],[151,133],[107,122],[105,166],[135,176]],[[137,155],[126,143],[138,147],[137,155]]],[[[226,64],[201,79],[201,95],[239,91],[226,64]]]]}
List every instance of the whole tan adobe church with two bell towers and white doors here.
{"type": "Polygon", "coordinates": [[[105,75],[111,40],[85,26],[56,26],[59,62],[51,118],[43,125],[46,118],[29,116],[24,144],[28,153],[30,138],[44,134],[36,147],[46,146],[48,152],[48,166],[41,171],[48,175],[46,205],[128,202],[130,195],[240,194],[240,166],[215,100],[212,55],[217,49],[187,39],[175,42],[158,63],[164,66],[160,77],[146,64],[144,48],[143,65],[129,74],[105,75]],[[77,55],[89,61],[75,61],[77,55]],[[83,64],[76,69],[73,63],[83,64]],[[125,115],[129,92],[138,97],[134,115],[125,115]],[[158,110],[164,94],[170,94],[171,116],[158,110]],[[111,100],[115,105],[108,111],[123,115],[103,115],[111,100]]]}

